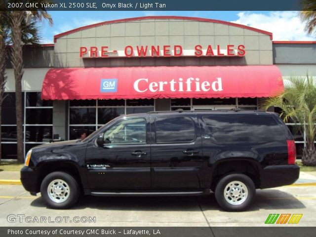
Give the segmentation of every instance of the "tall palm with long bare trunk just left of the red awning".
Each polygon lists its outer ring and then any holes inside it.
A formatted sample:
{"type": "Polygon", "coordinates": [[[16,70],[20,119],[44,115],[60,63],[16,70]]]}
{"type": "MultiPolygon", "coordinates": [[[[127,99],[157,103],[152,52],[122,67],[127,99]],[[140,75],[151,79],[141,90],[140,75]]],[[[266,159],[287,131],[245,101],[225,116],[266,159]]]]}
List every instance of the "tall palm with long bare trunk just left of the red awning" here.
{"type": "Polygon", "coordinates": [[[17,125],[17,158],[19,162],[24,161],[23,152],[23,113],[22,113],[22,76],[23,76],[23,29],[34,26],[39,21],[48,20],[52,24],[52,18],[40,3],[51,1],[37,0],[40,8],[26,9],[24,11],[11,11],[9,14],[11,29],[11,64],[14,69],[15,78],[15,105],[17,125]]]}

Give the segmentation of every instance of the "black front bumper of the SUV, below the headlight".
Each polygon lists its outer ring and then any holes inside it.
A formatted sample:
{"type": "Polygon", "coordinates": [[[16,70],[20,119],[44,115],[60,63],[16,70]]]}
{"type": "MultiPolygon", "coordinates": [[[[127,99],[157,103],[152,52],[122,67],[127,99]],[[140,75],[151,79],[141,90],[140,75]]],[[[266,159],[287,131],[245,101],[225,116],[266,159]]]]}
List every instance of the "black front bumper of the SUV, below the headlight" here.
{"type": "Polygon", "coordinates": [[[39,173],[36,170],[24,166],[21,169],[20,174],[22,185],[26,191],[33,194],[40,192],[40,178],[39,173]]]}

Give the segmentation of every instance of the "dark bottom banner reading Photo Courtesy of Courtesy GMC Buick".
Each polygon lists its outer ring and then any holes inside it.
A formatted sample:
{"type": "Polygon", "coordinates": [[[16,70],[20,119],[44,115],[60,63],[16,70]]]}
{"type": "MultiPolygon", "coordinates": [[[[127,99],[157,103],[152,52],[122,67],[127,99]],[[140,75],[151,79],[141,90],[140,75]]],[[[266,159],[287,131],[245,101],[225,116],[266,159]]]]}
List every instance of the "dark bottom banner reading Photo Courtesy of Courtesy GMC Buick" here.
{"type": "Polygon", "coordinates": [[[1,237],[314,237],[316,227],[0,227],[1,237]]]}

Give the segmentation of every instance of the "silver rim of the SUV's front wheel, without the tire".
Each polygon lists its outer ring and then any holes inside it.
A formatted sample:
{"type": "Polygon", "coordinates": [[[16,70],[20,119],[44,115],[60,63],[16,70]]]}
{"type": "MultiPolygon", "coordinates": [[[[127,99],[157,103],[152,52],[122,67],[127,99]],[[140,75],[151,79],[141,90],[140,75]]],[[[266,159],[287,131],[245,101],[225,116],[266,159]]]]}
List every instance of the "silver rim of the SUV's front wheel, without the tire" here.
{"type": "Polygon", "coordinates": [[[64,202],[69,198],[70,188],[62,179],[54,179],[47,188],[48,197],[54,202],[64,202]]]}

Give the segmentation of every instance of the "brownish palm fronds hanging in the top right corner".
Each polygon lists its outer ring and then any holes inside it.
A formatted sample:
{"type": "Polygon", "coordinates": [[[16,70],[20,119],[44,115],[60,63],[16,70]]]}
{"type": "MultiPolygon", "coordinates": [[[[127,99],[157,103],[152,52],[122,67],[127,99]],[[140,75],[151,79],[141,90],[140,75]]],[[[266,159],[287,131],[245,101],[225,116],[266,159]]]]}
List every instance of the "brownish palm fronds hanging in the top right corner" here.
{"type": "Polygon", "coordinates": [[[306,22],[305,31],[312,34],[316,29],[316,0],[303,0],[303,9],[300,12],[300,18],[306,22]]]}

